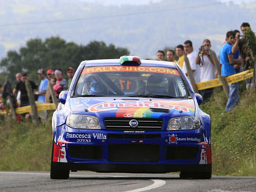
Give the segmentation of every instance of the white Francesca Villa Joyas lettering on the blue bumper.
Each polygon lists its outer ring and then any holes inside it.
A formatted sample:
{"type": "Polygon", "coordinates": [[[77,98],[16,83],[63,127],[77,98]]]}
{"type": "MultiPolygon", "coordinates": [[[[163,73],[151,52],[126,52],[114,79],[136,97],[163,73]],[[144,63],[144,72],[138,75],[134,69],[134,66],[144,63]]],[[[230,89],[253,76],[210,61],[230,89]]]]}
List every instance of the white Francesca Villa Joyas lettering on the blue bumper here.
{"type": "Polygon", "coordinates": [[[76,142],[91,142],[91,139],[107,139],[107,135],[93,133],[93,134],[73,134],[67,133],[67,139],[75,139],[76,142]]]}

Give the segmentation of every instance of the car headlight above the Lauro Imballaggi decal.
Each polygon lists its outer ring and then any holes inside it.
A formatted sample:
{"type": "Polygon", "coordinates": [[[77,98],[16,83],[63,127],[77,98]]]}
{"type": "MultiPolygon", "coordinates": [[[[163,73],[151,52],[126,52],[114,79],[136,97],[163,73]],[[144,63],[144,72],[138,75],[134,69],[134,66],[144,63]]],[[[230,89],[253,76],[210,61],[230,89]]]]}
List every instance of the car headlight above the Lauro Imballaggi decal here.
{"type": "Polygon", "coordinates": [[[171,118],[169,120],[167,130],[189,130],[199,128],[201,126],[199,118],[195,116],[184,116],[171,118]]]}

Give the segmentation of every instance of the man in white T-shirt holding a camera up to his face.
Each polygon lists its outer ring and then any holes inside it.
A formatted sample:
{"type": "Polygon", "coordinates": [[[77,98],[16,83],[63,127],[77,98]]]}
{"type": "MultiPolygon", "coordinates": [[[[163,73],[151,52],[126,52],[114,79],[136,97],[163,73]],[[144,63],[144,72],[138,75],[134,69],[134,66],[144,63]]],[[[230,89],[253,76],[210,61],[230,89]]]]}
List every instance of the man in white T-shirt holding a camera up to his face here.
{"type": "MultiPolygon", "coordinates": [[[[216,66],[214,65],[214,59],[211,54],[216,53],[211,50],[211,41],[209,39],[203,40],[203,45],[200,46],[199,52],[195,63],[200,66],[200,82],[213,80],[215,78],[216,66]]],[[[208,88],[200,90],[200,94],[203,96],[203,101],[210,99],[214,88],[208,88]]]]}

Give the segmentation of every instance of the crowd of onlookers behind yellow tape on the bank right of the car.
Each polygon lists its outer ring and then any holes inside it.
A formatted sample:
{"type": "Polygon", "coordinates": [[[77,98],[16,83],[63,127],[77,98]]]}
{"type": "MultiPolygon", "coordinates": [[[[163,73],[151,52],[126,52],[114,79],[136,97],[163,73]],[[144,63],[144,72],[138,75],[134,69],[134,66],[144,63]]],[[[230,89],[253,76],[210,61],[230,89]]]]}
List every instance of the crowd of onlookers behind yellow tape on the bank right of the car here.
{"type": "MultiPolygon", "coordinates": [[[[185,41],[184,45],[178,45],[175,48],[176,55],[174,50],[167,50],[167,61],[177,63],[188,76],[187,66],[184,62],[184,53],[187,53],[187,58],[192,69],[195,82],[213,80],[219,75],[214,62],[220,64],[220,75],[222,77],[228,77],[232,74],[245,71],[250,67],[253,68],[252,58],[249,54],[248,48],[246,47],[244,39],[246,28],[250,28],[249,23],[242,23],[242,35],[238,30],[227,31],[226,39],[219,50],[218,58],[214,50],[211,50],[211,41],[209,39],[204,39],[198,52],[194,49],[192,41],[190,40],[185,41]],[[178,57],[178,61],[175,60],[175,57],[178,57]]],[[[163,50],[157,51],[157,60],[165,61],[165,52],[163,50]]],[[[252,87],[255,87],[255,82],[253,82],[253,78],[249,78],[246,80],[246,88],[252,87]]],[[[208,100],[211,93],[213,93],[213,90],[214,88],[204,89],[200,91],[200,94],[203,96],[204,100],[208,100]]],[[[229,97],[225,107],[225,112],[232,110],[233,107],[238,104],[238,101],[238,82],[236,82],[229,85],[229,97]]]]}

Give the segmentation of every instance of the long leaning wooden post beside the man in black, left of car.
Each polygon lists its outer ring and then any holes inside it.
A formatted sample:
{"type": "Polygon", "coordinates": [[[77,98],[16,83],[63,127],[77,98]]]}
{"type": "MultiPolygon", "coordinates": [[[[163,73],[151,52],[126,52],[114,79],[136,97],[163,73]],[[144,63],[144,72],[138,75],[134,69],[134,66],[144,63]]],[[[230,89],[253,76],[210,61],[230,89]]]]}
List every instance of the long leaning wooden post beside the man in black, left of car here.
{"type": "Polygon", "coordinates": [[[29,96],[29,103],[31,106],[32,122],[38,124],[39,119],[37,115],[37,105],[36,105],[36,102],[34,101],[34,93],[32,91],[29,80],[26,80],[25,85],[26,85],[26,91],[28,92],[28,96],[29,96]]]}

